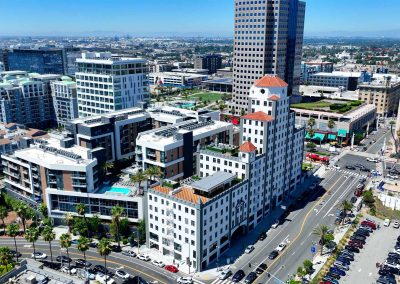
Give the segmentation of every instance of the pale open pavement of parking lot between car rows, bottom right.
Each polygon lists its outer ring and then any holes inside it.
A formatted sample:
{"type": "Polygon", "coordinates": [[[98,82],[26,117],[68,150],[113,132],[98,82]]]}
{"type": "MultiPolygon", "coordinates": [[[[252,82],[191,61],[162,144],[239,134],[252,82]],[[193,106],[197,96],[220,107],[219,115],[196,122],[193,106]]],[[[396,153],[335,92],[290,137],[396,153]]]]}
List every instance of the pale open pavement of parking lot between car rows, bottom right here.
{"type": "Polygon", "coordinates": [[[385,262],[388,253],[393,251],[400,230],[393,228],[392,224],[390,227],[384,227],[383,221],[373,217],[369,218],[376,220],[381,228],[375,230],[368,237],[366,245],[360,250],[360,253],[355,254],[350,270],[347,271],[346,276],[340,279],[340,283],[376,283],[379,278],[376,263],[385,262]]]}

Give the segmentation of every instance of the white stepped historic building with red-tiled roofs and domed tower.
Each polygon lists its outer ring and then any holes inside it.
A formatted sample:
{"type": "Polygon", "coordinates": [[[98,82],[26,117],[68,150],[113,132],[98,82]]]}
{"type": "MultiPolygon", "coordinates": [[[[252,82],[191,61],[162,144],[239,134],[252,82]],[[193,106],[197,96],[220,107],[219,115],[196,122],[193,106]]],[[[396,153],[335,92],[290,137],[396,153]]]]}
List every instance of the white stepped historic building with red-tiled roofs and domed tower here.
{"type": "Polygon", "coordinates": [[[249,112],[240,147],[215,141],[199,151],[196,176],[148,190],[149,247],[204,270],[296,190],[304,128],[295,126],[287,85],[257,81],[249,112]]]}

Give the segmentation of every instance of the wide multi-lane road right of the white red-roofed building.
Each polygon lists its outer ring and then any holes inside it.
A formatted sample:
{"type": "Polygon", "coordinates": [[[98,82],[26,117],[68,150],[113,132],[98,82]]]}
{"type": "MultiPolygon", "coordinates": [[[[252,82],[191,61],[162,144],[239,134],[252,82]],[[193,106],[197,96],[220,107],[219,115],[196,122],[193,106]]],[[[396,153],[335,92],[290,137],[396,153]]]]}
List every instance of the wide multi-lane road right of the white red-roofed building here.
{"type": "MultiPolygon", "coordinates": [[[[318,242],[318,237],[312,234],[313,229],[320,224],[333,228],[337,207],[342,200],[353,196],[358,179],[355,174],[328,171],[321,181],[320,189],[314,192],[310,200],[305,201],[306,204],[296,204],[297,209],[286,218],[288,221],[277,229],[270,229],[267,239],[257,242],[252,253],[242,255],[231,266],[232,271],[243,269],[247,275],[260,263],[267,263],[269,273],[286,281],[288,275],[294,274],[305,259],[312,258],[311,246],[318,242]],[[269,253],[283,241],[287,242],[287,248],[275,260],[268,260],[269,253]]],[[[211,283],[225,284],[230,283],[230,280],[215,279],[211,283]]],[[[273,278],[267,278],[264,274],[254,283],[274,282],[273,278]]]]}

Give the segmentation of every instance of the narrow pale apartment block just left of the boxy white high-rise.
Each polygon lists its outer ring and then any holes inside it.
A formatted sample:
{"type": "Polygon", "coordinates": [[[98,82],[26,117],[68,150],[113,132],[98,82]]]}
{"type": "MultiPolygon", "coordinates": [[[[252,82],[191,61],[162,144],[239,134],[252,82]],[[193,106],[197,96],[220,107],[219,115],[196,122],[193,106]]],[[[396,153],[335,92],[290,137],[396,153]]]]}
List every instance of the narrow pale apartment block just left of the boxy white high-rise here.
{"type": "Polygon", "coordinates": [[[51,95],[57,124],[65,126],[67,122],[78,117],[78,98],[76,83],[70,78],[51,82],[51,95]]]}

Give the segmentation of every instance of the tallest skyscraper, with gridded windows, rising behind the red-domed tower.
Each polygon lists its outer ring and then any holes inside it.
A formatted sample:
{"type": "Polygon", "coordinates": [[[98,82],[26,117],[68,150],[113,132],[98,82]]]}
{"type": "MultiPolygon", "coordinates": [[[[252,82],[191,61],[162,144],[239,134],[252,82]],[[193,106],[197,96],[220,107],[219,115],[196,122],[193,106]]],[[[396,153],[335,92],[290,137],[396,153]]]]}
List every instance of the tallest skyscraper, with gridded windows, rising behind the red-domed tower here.
{"type": "Polygon", "coordinates": [[[235,0],[233,104],[247,111],[254,81],[277,75],[298,94],[301,76],[305,2],[298,0],[235,0]]]}

